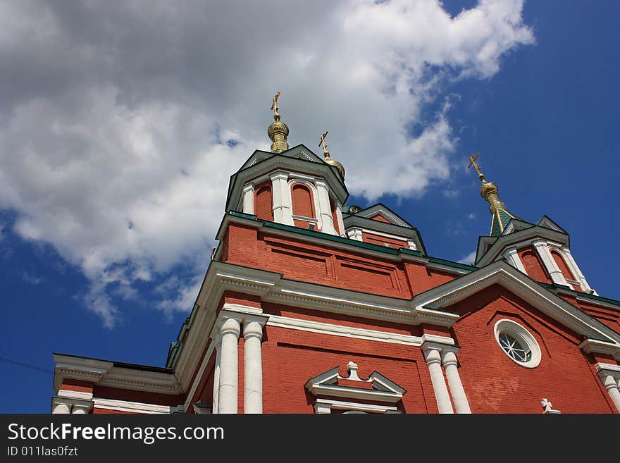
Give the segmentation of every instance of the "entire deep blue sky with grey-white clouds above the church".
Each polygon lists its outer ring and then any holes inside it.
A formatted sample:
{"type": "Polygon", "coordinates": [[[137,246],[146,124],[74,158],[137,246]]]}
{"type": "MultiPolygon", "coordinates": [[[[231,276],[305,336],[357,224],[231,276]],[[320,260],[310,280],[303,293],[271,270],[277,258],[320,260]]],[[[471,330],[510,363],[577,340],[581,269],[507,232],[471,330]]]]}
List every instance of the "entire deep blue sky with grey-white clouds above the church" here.
{"type": "Polygon", "coordinates": [[[228,177],[268,147],[278,89],[290,144],[318,152],[329,130],[349,204],[390,206],[433,257],[467,261],[488,233],[466,169],[481,152],[507,208],[550,216],[590,286],[620,300],[620,6],[394,3],[407,7],[402,30],[398,8],[373,4],[209,7],[227,16],[188,3],[180,37],[161,11],[2,6],[0,412],[49,412],[52,352],[164,364],[216,244],[228,177]],[[464,8],[485,15],[442,22],[464,8]],[[426,31],[435,20],[453,39],[426,31]]]}

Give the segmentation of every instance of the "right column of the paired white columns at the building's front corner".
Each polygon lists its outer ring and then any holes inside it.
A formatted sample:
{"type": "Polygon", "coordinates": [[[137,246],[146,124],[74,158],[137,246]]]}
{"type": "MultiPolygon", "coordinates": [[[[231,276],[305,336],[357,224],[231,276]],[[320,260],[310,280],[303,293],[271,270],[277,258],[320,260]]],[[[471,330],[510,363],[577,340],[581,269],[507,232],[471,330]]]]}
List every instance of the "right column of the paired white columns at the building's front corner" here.
{"type": "Polygon", "coordinates": [[[244,343],[244,387],[243,412],[263,412],[263,360],[261,340],[263,326],[258,321],[243,323],[244,343]]]}

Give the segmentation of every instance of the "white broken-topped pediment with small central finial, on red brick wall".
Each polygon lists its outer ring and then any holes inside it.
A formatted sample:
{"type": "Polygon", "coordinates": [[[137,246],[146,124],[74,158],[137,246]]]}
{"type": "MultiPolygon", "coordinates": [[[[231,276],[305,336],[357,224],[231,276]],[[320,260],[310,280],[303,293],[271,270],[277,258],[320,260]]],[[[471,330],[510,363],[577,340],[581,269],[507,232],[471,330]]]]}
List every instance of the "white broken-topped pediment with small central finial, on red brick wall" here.
{"type": "Polygon", "coordinates": [[[407,390],[373,371],[367,379],[357,374],[357,364],[347,364],[348,376],[340,376],[338,367],[325,371],[306,382],[306,389],[316,397],[317,413],[332,409],[349,412],[399,413],[397,402],[407,390]],[[361,402],[358,402],[361,401],[361,402]]]}

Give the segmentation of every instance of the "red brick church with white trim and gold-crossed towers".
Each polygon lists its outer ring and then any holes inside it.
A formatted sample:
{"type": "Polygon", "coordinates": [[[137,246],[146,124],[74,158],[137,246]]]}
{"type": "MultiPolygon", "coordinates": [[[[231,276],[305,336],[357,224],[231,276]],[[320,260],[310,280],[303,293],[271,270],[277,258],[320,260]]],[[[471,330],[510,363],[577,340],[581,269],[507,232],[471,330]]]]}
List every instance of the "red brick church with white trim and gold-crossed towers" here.
{"type": "Polygon", "coordinates": [[[54,354],[52,413],[620,412],[620,301],[566,230],[508,211],[471,156],[490,233],[473,266],[431,257],[272,110],[166,366],[54,354]]]}

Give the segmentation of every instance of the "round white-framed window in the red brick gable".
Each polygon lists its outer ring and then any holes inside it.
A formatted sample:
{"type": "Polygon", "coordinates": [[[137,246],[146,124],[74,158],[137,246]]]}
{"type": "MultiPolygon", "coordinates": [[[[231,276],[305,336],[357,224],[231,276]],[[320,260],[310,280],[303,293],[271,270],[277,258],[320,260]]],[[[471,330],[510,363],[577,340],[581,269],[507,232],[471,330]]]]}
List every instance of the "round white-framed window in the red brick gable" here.
{"type": "Polygon", "coordinates": [[[526,368],[540,364],[540,347],[526,328],[515,321],[502,319],[495,323],[495,340],[504,353],[526,368]]]}

